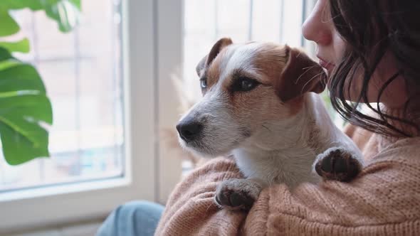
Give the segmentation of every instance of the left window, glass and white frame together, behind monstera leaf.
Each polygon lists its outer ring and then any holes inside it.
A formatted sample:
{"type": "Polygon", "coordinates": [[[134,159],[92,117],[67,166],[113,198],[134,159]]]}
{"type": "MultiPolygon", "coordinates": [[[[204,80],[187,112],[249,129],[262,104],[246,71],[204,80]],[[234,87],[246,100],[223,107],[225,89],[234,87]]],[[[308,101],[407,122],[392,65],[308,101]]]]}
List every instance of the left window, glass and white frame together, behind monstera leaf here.
{"type": "Polygon", "coordinates": [[[0,163],[0,234],[100,219],[126,201],[156,200],[154,5],[81,2],[80,26],[68,34],[43,14],[13,13],[33,43],[30,54],[17,56],[41,73],[54,124],[51,159],[0,163]]]}

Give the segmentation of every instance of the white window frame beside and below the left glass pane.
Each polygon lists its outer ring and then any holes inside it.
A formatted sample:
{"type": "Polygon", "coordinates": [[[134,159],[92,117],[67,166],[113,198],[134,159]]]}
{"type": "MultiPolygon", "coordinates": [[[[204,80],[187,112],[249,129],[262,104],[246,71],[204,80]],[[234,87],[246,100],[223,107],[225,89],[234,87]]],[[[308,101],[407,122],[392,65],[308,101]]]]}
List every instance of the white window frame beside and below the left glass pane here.
{"type": "Polygon", "coordinates": [[[168,78],[182,75],[174,69],[182,65],[183,1],[121,4],[124,176],[1,193],[0,234],[103,219],[130,200],[164,203],[181,178],[181,160],[163,157],[170,151],[159,145],[159,127],[177,120],[168,78]]]}

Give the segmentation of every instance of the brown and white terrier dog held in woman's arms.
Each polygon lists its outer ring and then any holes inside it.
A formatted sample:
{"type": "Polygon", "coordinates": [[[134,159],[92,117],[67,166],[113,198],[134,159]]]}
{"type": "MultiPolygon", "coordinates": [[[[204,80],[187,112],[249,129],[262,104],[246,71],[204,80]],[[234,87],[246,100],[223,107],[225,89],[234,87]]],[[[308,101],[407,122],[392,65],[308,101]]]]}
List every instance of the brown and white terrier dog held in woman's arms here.
{"type": "Polygon", "coordinates": [[[203,97],[177,124],[179,142],[200,156],[231,154],[245,177],[219,184],[217,205],[249,210],[273,183],[350,181],[361,170],[361,152],[317,95],[325,72],[302,51],[221,38],[196,73],[203,97]]]}

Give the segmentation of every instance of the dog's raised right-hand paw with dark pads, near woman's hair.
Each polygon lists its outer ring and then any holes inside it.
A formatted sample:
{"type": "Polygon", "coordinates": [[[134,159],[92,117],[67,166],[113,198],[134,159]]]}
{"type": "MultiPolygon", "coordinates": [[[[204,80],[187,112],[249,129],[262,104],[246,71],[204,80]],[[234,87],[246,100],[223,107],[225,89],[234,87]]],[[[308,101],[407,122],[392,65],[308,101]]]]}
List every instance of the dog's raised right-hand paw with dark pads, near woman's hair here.
{"type": "Polygon", "coordinates": [[[349,182],[362,171],[362,158],[344,148],[334,147],[317,156],[315,171],[324,179],[349,182]]]}

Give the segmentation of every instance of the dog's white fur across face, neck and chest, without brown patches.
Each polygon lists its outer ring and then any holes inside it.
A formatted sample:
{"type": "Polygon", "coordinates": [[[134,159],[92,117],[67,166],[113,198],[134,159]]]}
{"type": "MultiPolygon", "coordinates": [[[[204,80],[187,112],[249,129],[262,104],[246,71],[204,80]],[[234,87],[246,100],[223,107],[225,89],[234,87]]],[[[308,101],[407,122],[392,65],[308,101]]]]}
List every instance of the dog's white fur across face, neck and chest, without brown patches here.
{"type": "MultiPolygon", "coordinates": [[[[204,123],[202,137],[194,144],[180,139],[182,146],[206,156],[233,154],[243,175],[260,186],[256,188],[253,184],[249,189],[253,198],[258,196],[261,188],[272,183],[286,183],[293,187],[302,182],[319,181],[313,163],[335,149],[349,151],[362,163],[357,146],[335,127],[322,99],[313,92],[302,95],[300,110],[293,115],[282,114],[287,108],[269,86],[250,91],[262,97],[263,102],[258,106],[251,106],[252,102],[246,98],[241,98],[242,104],[232,104],[226,86],[233,71],[241,70],[264,81],[273,80],[255,63],[263,46],[264,43],[233,44],[217,55],[219,59],[211,66],[217,63],[219,78],[201,101],[182,117],[194,117],[204,123]],[[240,116],[233,114],[233,109],[239,111],[240,116]]],[[[247,188],[243,181],[230,182],[228,185],[233,189],[235,186],[247,188]]]]}

